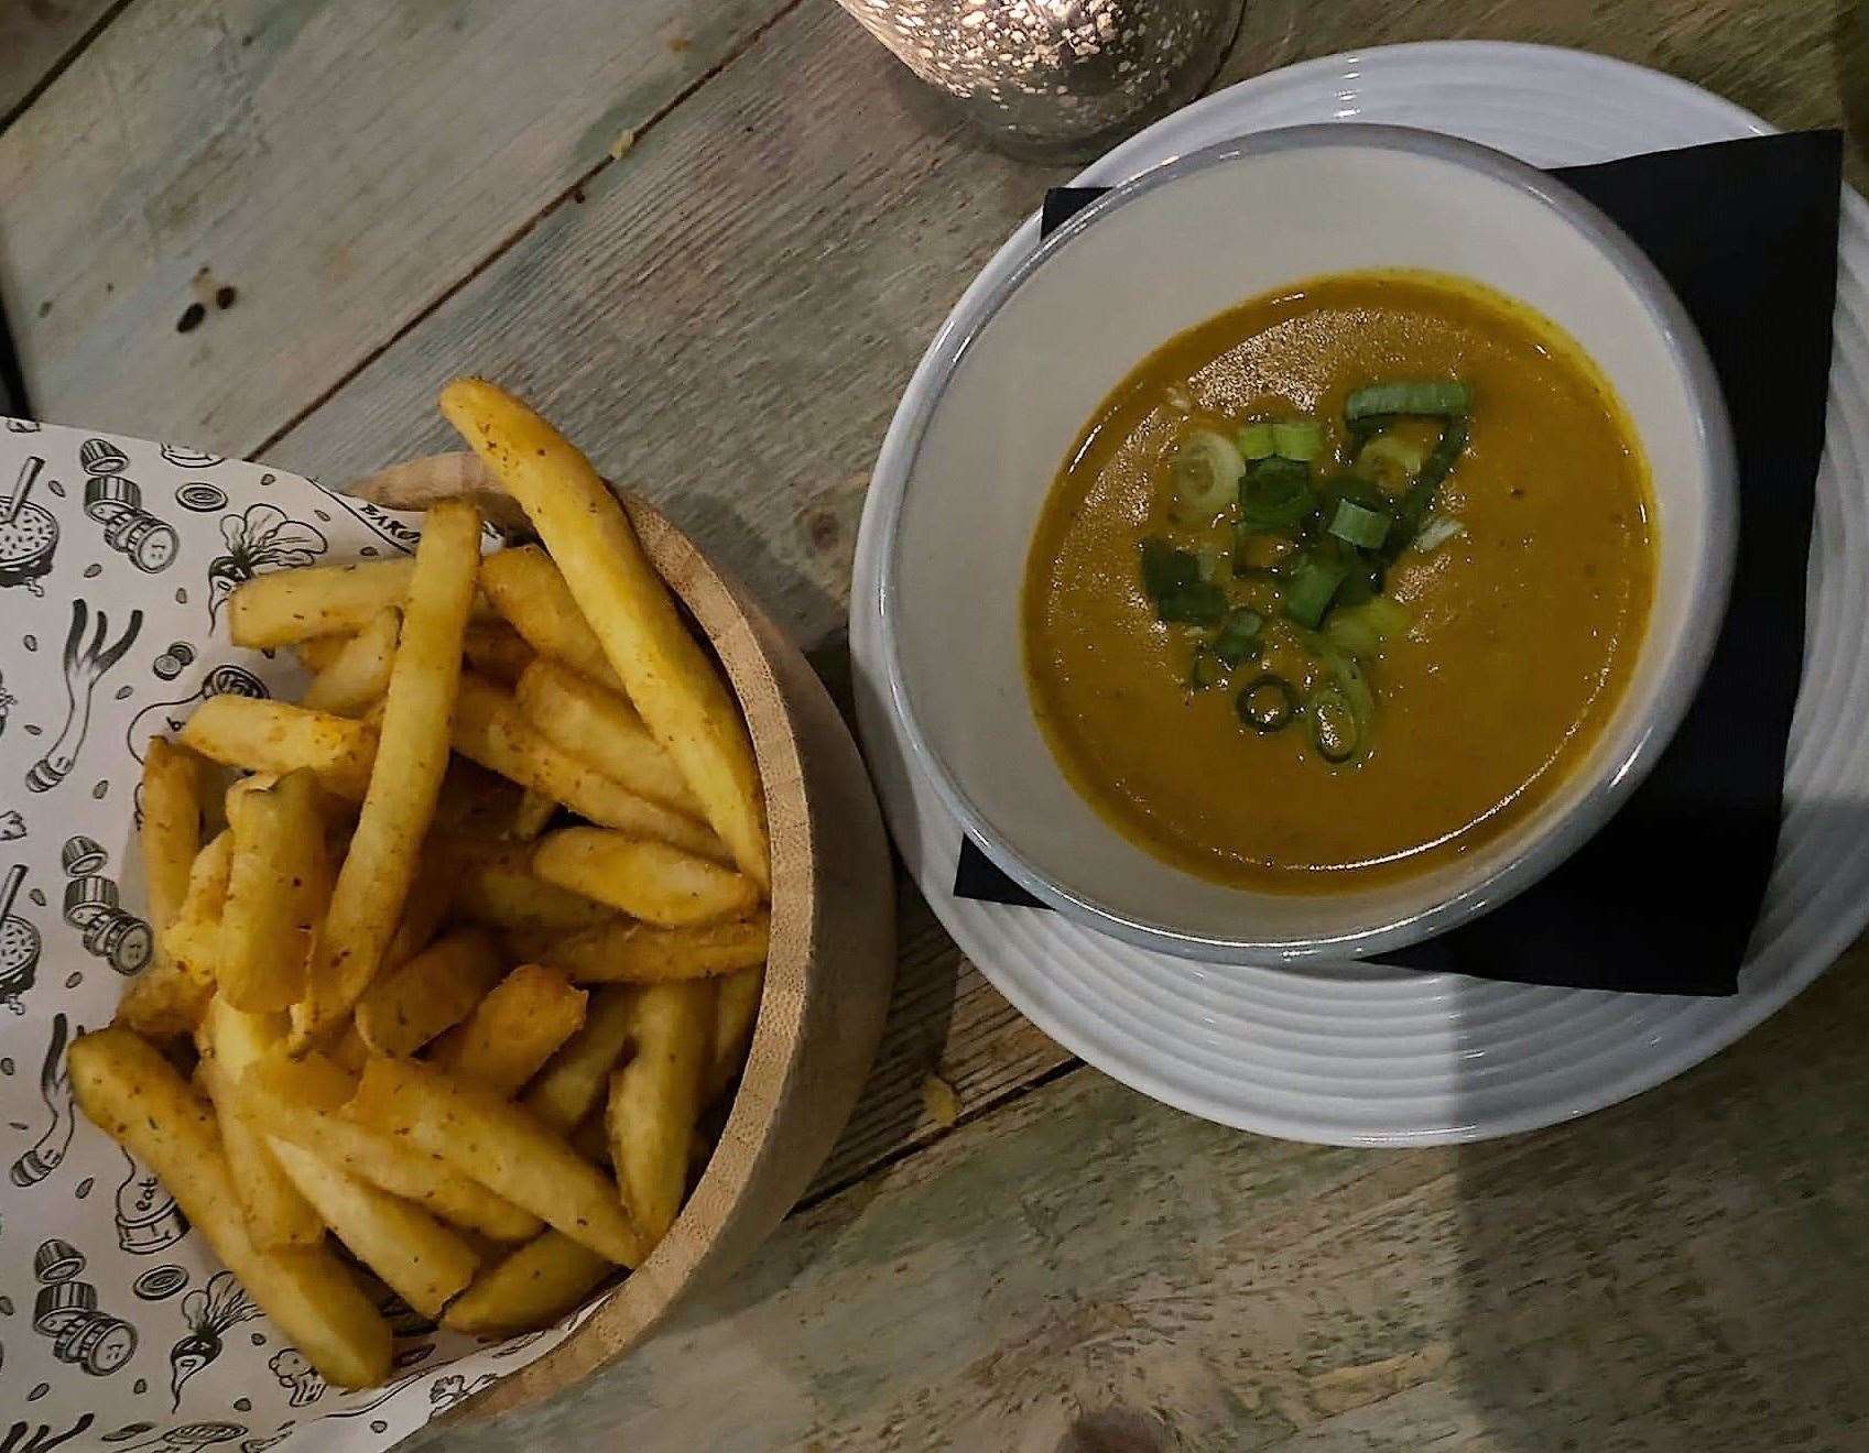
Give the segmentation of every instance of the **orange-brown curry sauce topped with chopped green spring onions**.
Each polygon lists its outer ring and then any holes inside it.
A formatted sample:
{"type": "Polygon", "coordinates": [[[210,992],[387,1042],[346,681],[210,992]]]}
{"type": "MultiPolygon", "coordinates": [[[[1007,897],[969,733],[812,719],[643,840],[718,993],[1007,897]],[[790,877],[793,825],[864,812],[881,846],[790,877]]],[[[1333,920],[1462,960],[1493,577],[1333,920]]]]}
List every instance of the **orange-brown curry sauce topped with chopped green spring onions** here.
{"type": "Polygon", "coordinates": [[[1318,891],[1469,852],[1628,682],[1647,467],[1555,325],[1351,273],[1230,308],[1090,420],[1026,564],[1032,706],[1151,853],[1318,891]]]}

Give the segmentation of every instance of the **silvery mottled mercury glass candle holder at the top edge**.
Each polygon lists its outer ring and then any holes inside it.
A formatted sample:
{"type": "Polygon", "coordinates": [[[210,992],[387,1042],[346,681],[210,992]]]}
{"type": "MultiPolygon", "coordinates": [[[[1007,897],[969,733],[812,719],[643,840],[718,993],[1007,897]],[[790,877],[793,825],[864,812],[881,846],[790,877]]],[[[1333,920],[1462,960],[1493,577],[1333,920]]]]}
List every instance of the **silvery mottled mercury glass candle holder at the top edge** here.
{"type": "Polygon", "coordinates": [[[1084,161],[1192,101],[1243,0],[839,0],[996,146],[1084,161]]]}

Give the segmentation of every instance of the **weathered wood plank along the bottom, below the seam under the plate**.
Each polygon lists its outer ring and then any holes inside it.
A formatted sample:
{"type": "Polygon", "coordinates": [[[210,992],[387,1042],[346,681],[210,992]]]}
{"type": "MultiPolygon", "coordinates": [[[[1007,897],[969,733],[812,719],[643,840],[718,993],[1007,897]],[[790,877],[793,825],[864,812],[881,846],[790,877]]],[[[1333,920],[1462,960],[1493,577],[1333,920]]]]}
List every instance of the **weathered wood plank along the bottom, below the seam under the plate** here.
{"type": "Polygon", "coordinates": [[[794,1216],[585,1388],[407,1449],[1860,1447],[1865,969],[1469,1149],[1265,1141],[1077,1070],[794,1216]]]}

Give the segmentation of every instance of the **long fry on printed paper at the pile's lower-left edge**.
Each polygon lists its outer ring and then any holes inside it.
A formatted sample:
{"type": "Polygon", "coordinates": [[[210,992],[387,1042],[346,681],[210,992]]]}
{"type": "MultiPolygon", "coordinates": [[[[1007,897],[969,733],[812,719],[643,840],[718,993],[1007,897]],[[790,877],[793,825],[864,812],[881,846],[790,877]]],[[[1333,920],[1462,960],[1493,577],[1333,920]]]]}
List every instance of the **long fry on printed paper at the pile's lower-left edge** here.
{"type": "Polygon", "coordinates": [[[323,1248],[262,1251],[247,1234],[213,1111],[129,1029],[80,1035],[67,1051],[78,1107],[148,1165],[288,1345],[340,1388],[389,1376],[389,1322],[323,1248]]]}

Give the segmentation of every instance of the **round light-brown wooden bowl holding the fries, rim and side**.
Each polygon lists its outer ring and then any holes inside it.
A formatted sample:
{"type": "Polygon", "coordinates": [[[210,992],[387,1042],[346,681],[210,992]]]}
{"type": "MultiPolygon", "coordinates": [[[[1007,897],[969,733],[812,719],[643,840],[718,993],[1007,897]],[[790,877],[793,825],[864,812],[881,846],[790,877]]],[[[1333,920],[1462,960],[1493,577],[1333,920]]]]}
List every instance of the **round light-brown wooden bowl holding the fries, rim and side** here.
{"type": "MultiPolygon", "coordinates": [[[[473,497],[527,523],[471,454],[372,474],[350,493],[421,510],[473,497]]],[[[480,1418],[551,1397],[635,1347],[693,1291],[735,1272],[783,1220],[856,1104],[895,971],[893,876],[863,762],[798,648],[663,515],[624,495],[662,579],[727,670],[753,732],[772,831],[772,951],[753,1046],[720,1147],[667,1236],[576,1333],[462,1403],[480,1418]]]]}

